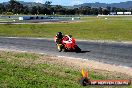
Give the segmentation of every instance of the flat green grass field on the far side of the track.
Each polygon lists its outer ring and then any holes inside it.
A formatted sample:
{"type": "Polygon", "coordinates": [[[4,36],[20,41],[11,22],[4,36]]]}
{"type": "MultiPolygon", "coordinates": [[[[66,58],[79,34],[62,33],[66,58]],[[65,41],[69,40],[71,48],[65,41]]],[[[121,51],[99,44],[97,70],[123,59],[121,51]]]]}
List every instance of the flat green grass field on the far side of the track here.
{"type": "Polygon", "coordinates": [[[1,24],[0,36],[48,37],[61,31],[77,39],[132,41],[132,16],[82,17],[76,23],[1,24]]]}

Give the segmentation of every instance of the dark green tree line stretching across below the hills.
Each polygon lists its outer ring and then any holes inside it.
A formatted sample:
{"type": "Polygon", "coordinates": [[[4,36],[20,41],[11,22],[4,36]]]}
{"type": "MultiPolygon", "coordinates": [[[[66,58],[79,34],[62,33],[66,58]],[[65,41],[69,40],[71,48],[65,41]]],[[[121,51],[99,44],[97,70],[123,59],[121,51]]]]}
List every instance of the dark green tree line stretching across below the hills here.
{"type": "Polygon", "coordinates": [[[65,8],[61,5],[51,5],[52,2],[46,1],[41,6],[25,6],[19,1],[10,0],[8,4],[0,4],[0,14],[32,14],[32,15],[108,15],[110,12],[132,12],[132,9],[126,10],[124,8],[107,7],[107,8],[91,8],[89,6],[81,6],[77,8],[65,8]]]}

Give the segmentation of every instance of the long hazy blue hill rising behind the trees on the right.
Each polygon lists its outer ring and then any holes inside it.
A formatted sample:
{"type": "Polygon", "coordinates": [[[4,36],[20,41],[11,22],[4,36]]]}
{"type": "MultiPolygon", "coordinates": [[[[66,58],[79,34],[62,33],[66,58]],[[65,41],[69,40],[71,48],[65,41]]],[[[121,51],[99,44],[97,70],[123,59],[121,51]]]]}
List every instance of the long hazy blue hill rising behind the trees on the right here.
{"type": "Polygon", "coordinates": [[[116,8],[124,8],[124,9],[130,9],[132,8],[132,1],[127,1],[127,2],[120,2],[120,3],[111,3],[111,4],[106,4],[106,3],[84,3],[80,5],[74,5],[74,7],[81,7],[81,6],[90,6],[93,8],[98,8],[98,7],[116,7],[116,8]]]}

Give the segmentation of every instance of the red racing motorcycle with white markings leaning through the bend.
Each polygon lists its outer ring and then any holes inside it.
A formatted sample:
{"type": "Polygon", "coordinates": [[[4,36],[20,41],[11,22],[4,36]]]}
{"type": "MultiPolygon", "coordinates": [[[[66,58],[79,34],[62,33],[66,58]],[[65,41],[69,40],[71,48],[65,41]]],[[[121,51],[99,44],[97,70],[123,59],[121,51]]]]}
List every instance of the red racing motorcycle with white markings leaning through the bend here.
{"type": "MultiPolygon", "coordinates": [[[[55,40],[56,42],[56,40],[55,40]]],[[[75,39],[72,36],[65,35],[61,39],[61,43],[56,44],[59,52],[81,52],[81,49],[76,45],[75,39]]]]}

